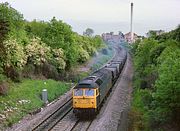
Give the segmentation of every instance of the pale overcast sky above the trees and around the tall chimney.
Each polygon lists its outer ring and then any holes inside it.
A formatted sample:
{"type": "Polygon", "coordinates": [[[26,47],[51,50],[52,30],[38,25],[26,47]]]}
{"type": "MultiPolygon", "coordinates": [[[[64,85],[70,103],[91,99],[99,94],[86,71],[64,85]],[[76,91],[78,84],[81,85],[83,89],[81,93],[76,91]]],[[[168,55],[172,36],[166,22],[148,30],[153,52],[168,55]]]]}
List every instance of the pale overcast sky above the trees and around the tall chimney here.
{"type": "Polygon", "coordinates": [[[129,32],[130,3],[134,3],[134,32],[169,31],[180,24],[180,0],[0,0],[9,2],[27,20],[50,20],[53,16],[80,34],[87,28],[96,34],[129,32]]]}

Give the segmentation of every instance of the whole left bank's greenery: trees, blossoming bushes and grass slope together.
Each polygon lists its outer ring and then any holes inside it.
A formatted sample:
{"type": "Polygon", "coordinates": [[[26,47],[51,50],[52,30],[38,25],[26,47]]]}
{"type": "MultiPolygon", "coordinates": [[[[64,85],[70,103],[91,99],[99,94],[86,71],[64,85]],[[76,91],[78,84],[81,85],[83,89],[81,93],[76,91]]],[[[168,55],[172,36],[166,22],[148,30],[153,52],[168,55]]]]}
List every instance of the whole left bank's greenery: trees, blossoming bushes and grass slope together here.
{"type": "Polygon", "coordinates": [[[49,101],[69,90],[54,80],[64,80],[67,71],[102,47],[100,36],[79,35],[55,17],[27,21],[7,2],[0,3],[0,130],[42,107],[42,88],[49,101]]]}

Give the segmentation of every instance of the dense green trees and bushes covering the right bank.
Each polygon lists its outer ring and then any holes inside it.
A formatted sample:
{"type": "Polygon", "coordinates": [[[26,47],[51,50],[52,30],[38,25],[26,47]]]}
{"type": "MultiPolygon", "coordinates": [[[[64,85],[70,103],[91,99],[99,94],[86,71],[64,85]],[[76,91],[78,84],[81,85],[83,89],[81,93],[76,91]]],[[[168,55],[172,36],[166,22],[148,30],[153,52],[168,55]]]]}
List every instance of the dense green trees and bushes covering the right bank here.
{"type": "Polygon", "coordinates": [[[152,36],[133,46],[136,90],[133,109],[142,114],[141,121],[148,123],[144,125],[146,129],[179,122],[179,29],[178,26],[171,32],[152,36]]]}

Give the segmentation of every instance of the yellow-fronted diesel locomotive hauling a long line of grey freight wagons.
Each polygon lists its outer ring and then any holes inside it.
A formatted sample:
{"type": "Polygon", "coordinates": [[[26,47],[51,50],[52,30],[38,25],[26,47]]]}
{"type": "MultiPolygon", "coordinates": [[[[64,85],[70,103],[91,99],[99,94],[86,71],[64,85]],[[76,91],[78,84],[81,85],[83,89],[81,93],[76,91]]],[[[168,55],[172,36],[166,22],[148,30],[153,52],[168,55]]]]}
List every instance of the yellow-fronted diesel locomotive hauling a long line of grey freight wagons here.
{"type": "Polygon", "coordinates": [[[103,101],[119,77],[126,59],[127,53],[124,51],[122,57],[114,58],[73,88],[73,112],[77,117],[91,117],[99,112],[103,101]]]}

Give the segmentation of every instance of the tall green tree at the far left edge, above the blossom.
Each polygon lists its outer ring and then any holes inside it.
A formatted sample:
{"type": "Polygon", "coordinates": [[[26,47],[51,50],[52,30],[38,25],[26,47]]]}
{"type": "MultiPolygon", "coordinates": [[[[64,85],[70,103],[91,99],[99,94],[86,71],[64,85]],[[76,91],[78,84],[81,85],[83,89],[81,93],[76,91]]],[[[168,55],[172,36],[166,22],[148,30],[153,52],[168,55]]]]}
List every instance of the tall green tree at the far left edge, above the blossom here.
{"type": "Polygon", "coordinates": [[[17,40],[24,41],[25,31],[23,30],[23,24],[22,14],[12,8],[9,3],[0,3],[0,68],[3,65],[2,61],[7,60],[6,47],[3,41],[11,36],[17,40]]]}

